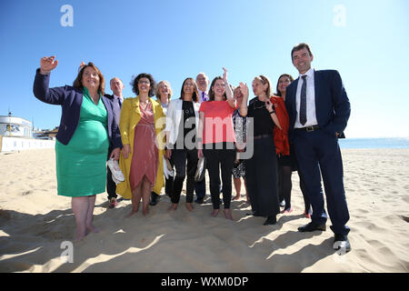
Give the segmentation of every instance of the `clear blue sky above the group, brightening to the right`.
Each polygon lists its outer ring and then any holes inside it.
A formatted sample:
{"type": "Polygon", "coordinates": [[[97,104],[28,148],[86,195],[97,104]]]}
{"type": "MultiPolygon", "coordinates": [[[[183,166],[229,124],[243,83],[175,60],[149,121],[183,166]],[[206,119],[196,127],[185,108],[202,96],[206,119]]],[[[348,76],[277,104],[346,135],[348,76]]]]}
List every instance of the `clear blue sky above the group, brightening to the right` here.
{"type": "MultiPolygon", "coordinates": [[[[343,77],[352,114],[347,137],[409,136],[409,1],[407,0],[3,0],[0,2],[0,115],[59,125],[61,108],[35,99],[35,69],[44,55],[59,65],[51,86],[72,85],[81,61],[134,96],[133,75],[168,80],[179,97],[188,76],[229,70],[233,85],[267,75],[298,75],[293,45],[311,45],[315,69],[343,77]],[[61,25],[63,5],[73,26],[61,25]]],[[[109,83],[105,91],[111,93],[109,83]]],[[[250,98],[253,97],[251,92],[250,98]]]]}

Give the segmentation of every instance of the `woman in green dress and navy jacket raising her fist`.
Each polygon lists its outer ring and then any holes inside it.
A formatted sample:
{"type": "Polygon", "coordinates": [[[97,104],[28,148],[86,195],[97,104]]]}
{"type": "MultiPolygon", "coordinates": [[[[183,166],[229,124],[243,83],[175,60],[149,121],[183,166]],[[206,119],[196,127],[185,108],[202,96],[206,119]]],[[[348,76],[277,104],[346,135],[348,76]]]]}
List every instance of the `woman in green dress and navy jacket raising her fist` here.
{"type": "Polygon", "coordinates": [[[119,159],[122,144],[113,104],[104,96],[104,75],[89,63],[81,67],[73,86],[49,88],[50,72],[57,64],[55,56],[41,59],[34,94],[63,109],[55,142],[57,190],[59,196],[72,197],[76,240],[81,240],[97,232],[95,195],[105,192],[108,146],[112,143],[111,157],[119,159]]]}

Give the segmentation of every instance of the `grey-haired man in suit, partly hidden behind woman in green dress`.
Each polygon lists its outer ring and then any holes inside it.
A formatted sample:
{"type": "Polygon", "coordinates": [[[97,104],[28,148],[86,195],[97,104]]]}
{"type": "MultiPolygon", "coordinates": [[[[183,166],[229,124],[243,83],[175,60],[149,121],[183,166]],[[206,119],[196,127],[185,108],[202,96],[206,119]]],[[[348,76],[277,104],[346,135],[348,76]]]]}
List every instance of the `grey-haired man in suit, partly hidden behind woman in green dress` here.
{"type": "MultiPolygon", "coordinates": [[[[121,79],[117,77],[114,77],[111,79],[110,85],[111,85],[111,90],[113,92],[113,95],[105,95],[105,96],[111,99],[113,102],[115,123],[116,125],[119,126],[119,115],[121,114],[121,107],[122,107],[122,103],[124,102],[124,96],[122,95],[122,91],[124,90],[125,85],[121,81],[121,79]]],[[[113,150],[112,145],[109,145],[108,159],[109,159],[109,156],[111,155],[112,150],[113,150]]],[[[106,193],[108,193],[108,202],[109,202],[108,207],[114,208],[118,204],[116,201],[116,198],[118,196],[116,195],[116,184],[114,180],[112,179],[112,173],[111,173],[111,169],[109,168],[109,166],[107,166],[107,172],[106,172],[106,193]]]]}

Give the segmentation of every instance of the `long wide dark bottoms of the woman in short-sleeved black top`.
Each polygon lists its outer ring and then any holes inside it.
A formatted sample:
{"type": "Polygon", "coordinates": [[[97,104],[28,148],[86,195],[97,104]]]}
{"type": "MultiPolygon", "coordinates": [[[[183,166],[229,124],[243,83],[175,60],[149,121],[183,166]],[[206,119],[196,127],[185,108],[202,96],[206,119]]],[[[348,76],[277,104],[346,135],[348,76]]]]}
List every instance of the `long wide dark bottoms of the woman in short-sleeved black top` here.
{"type": "Polygon", "coordinates": [[[277,157],[273,135],[254,139],[254,153],[245,163],[245,182],[252,210],[262,216],[280,213],[277,157]]]}

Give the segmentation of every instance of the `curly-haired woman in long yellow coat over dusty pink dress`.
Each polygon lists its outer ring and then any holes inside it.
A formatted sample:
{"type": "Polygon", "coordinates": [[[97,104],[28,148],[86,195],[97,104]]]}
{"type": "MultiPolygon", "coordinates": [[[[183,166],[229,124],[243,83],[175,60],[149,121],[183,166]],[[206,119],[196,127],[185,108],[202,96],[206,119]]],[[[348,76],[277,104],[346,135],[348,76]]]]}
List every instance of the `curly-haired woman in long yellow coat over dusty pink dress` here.
{"type": "Polygon", "coordinates": [[[136,97],[125,99],[119,119],[124,146],[119,166],[125,182],[118,184],[116,192],[125,199],[132,199],[129,216],[138,211],[142,198],[146,216],[151,192],[160,193],[164,185],[165,115],[162,106],[151,98],[155,92],[152,75],[137,75],[133,85],[136,97]]]}

